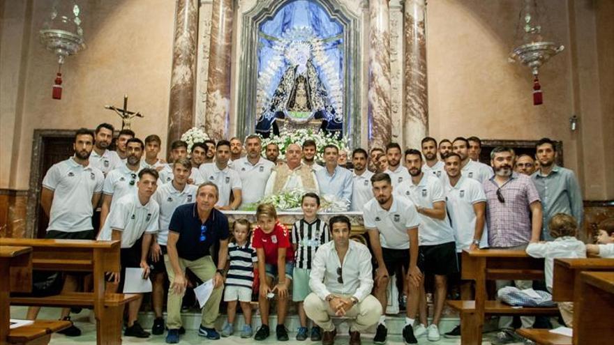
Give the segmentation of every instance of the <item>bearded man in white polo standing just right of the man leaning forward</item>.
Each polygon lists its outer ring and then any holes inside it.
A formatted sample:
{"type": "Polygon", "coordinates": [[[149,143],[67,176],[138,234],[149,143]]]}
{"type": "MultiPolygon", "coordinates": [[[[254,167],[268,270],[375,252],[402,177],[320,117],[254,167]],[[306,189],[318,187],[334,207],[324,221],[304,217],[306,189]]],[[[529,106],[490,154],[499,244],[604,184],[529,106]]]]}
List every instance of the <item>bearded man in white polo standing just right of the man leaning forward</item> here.
{"type": "Polygon", "coordinates": [[[435,275],[435,300],[433,321],[426,327],[426,293],[424,280],[420,284],[419,296],[411,294],[409,304],[412,306],[407,315],[414,318],[419,305],[420,323],[414,328],[415,337],[426,337],[431,342],[440,339],[439,321],[447,295],[447,276],[458,272],[456,263],[456,243],[454,229],[450,226],[446,212],[446,194],[439,178],[422,172],[422,155],[420,151],[410,148],[405,151],[405,164],[412,176],[410,181],[401,183],[396,194],[410,199],[418,211],[420,227],[420,259],[424,260],[421,271],[424,275],[435,275]],[[413,300],[419,298],[419,304],[413,300]],[[415,308],[415,309],[414,309],[415,308]]]}

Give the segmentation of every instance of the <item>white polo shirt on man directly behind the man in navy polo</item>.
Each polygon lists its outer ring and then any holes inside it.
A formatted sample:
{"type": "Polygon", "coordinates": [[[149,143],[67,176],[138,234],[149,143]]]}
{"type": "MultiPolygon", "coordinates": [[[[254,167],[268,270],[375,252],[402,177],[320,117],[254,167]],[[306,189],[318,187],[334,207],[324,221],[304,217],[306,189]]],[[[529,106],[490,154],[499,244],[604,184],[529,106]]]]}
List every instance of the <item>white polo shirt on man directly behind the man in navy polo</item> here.
{"type": "Polygon", "coordinates": [[[158,244],[166,245],[168,239],[168,225],[170,218],[177,206],[190,204],[196,201],[195,185],[186,185],[184,190],[176,190],[172,183],[161,185],[153,194],[151,199],[155,200],[160,206],[160,217],[158,220],[158,244]]]}

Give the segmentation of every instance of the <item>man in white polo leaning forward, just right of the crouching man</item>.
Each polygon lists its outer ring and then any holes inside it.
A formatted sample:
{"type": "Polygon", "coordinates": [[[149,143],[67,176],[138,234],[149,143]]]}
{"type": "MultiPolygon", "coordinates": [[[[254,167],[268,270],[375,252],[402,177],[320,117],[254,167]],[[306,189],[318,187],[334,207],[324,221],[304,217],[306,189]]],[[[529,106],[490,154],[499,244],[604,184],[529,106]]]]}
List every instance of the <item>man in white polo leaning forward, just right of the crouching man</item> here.
{"type": "MultiPolygon", "coordinates": [[[[375,271],[375,289],[373,295],[382,303],[382,309],[388,305],[387,288],[389,276],[403,266],[407,272],[406,284],[409,284],[410,296],[419,294],[421,281],[421,263],[418,258],[419,217],[416,207],[410,199],[393,196],[390,176],[378,173],[371,177],[375,197],[365,204],[363,209],[364,227],[369,234],[373,256],[377,261],[375,271]]],[[[405,280],[404,279],[404,280],[405,280]]],[[[417,309],[417,300],[411,300],[415,308],[407,307],[407,317],[403,328],[403,340],[407,344],[417,344],[412,324],[414,316],[410,311],[417,309]]],[[[373,342],[385,344],[388,329],[385,316],[380,317],[373,342]]]]}

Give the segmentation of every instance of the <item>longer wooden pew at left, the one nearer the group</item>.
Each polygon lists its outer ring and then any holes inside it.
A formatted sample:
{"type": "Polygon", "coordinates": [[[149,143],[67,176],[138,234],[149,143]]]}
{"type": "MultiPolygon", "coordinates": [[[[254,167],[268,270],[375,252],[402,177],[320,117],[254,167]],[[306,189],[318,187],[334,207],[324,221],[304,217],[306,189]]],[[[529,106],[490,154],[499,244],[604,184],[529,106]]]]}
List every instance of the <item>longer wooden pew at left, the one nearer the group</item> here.
{"type": "Polygon", "coordinates": [[[121,344],[123,307],[140,295],[105,293],[105,272],[119,272],[119,241],[0,238],[0,245],[32,247],[34,270],[93,275],[93,292],[42,298],[11,296],[11,305],[91,307],[96,316],[96,343],[121,344]]]}

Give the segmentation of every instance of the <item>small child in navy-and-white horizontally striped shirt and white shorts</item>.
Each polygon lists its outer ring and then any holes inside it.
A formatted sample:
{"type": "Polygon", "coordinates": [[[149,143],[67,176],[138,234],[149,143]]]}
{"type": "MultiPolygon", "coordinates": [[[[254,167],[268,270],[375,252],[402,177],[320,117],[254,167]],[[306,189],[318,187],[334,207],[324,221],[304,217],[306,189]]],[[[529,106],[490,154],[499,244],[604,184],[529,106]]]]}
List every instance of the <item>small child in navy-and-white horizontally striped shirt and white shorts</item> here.
{"type": "Polygon", "coordinates": [[[224,301],[228,302],[228,322],[222,329],[222,337],[230,337],[234,332],[234,316],[237,313],[237,300],[241,304],[245,325],[241,338],[252,336],[252,285],[254,283],[254,268],[258,257],[256,250],[249,243],[250,223],[240,219],[232,224],[234,240],[228,245],[228,273],[225,281],[224,301]]]}

